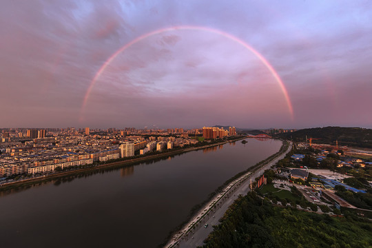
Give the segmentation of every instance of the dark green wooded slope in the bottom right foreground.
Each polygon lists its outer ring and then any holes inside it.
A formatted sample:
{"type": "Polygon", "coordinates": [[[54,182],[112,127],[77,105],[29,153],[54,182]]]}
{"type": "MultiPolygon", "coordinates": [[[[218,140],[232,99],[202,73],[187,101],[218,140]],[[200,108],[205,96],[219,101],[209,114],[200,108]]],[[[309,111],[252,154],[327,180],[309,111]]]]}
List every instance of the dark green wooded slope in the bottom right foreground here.
{"type": "Polygon", "coordinates": [[[372,223],[275,207],[255,192],[240,197],[203,247],[370,247],[372,223]]]}

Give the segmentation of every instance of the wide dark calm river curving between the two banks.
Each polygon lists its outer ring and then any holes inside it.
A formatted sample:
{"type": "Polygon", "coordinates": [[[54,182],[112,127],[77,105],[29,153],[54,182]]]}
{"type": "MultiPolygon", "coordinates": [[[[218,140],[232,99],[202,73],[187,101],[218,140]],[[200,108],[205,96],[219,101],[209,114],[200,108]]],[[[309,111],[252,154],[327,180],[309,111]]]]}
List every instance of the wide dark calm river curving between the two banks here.
{"type": "Polygon", "coordinates": [[[156,247],[194,205],[280,141],[227,143],[0,197],[0,247],[156,247]]]}

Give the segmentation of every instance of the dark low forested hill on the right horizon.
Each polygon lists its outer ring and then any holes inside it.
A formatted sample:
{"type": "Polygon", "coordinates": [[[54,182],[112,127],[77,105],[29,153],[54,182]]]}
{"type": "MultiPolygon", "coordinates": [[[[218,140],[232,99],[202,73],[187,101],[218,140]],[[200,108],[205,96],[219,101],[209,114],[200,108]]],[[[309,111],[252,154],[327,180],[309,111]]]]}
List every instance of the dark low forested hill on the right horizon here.
{"type": "Polygon", "coordinates": [[[372,148],[372,130],[360,127],[316,127],[298,130],[291,133],[276,134],[280,138],[289,138],[293,141],[304,142],[305,138],[319,138],[313,143],[327,143],[335,145],[348,145],[352,147],[372,148]]]}

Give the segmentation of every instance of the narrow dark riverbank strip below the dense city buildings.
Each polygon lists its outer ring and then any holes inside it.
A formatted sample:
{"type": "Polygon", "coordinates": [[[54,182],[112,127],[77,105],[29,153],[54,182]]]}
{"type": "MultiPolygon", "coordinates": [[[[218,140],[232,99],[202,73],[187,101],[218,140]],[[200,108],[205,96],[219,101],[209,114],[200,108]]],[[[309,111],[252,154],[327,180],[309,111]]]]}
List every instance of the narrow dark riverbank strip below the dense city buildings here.
{"type": "Polygon", "coordinates": [[[17,180],[14,182],[10,183],[3,183],[0,185],[0,192],[11,190],[11,189],[17,189],[18,187],[27,187],[30,185],[34,184],[40,184],[40,183],[46,183],[50,180],[58,180],[61,178],[65,178],[67,176],[77,176],[79,174],[85,174],[87,172],[96,172],[100,171],[102,169],[111,169],[115,167],[127,167],[127,166],[132,166],[132,165],[137,165],[139,163],[144,163],[144,162],[149,162],[149,161],[156,161],[161,158],[167,158],[169,156],[174,156],[174,155],[180,155],[184,154],[187,152],[192,152],[196,151],[198,149],[205,149],[208,147],[215,147],[218,145],[224,145],[226,143],[231,143],[231,142],[236,142],[244,139],[244,137],[239,137],[231,141],[222,141],[218,143],[213,143],[213,144],[208,144],[208,145],[202,145],[198,147],[187,147],[184,149],[177,149],[174,151],[170,152],[164,152],[161,154],[155,154],[155,155],[149,155],[149,156],[143,156],[141,158],[132,158],[132,159],[127,159],[123,161],[114,161],[114,162],[109,162],[109,163],[104,163],[104,164],[99,164],[99,165],[94,165],[92,167],[85,167],[81,169],[73,169],[67,172],[59,172],[56,174],[49,174],[49,175],[43,175],[39,176],[37,178],[28,178],[28,179],[23,179],[23,180],[17,180]]]}

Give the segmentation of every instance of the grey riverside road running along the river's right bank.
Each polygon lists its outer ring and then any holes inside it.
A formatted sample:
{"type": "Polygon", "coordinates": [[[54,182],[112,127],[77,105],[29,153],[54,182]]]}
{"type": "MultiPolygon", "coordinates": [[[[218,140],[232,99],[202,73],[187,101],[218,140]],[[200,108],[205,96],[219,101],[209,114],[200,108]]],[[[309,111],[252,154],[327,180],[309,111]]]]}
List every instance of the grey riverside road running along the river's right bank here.
{"type": "Polygon", "coordinates": [[[236,185],[236,189],[231,190],[224,198],[221,200],[221,203],[218,204],[216,209],[212,210],[210,214],[207,214],[198,225],[196,225],[194,231],[187,234],[187,236],[184,236],[181,238],[180,242],[178,242],[178,245],[175,247],[180,248],[194,248],[203,245],[203,241],[211,231],[213,231],[213,226],[219,224],[220,218],[223,217],[229,206],[234,203],[234,200],[238,198],[240,194],[243,196],[246,195],[249,192],[249,184],[250,181],[254,182],[254,178],[262,175],[263,172],[265,172],[265,169],[269,169],[271,165],[276,164],[280,159],[285,157],[285,154],[287,154],[291,150],[291,143],[287,149],[286,152],[284,152],[282,155],[275,158],[270,163],[267,163],[266,165],[263,165],[260,167],[260,169],[257,169],[256,172],[251,174],[247,180],[242,181],[242,183],[238,183],[236,185]],[[208,225],[205,227],[205,225],[208,225]]]}

